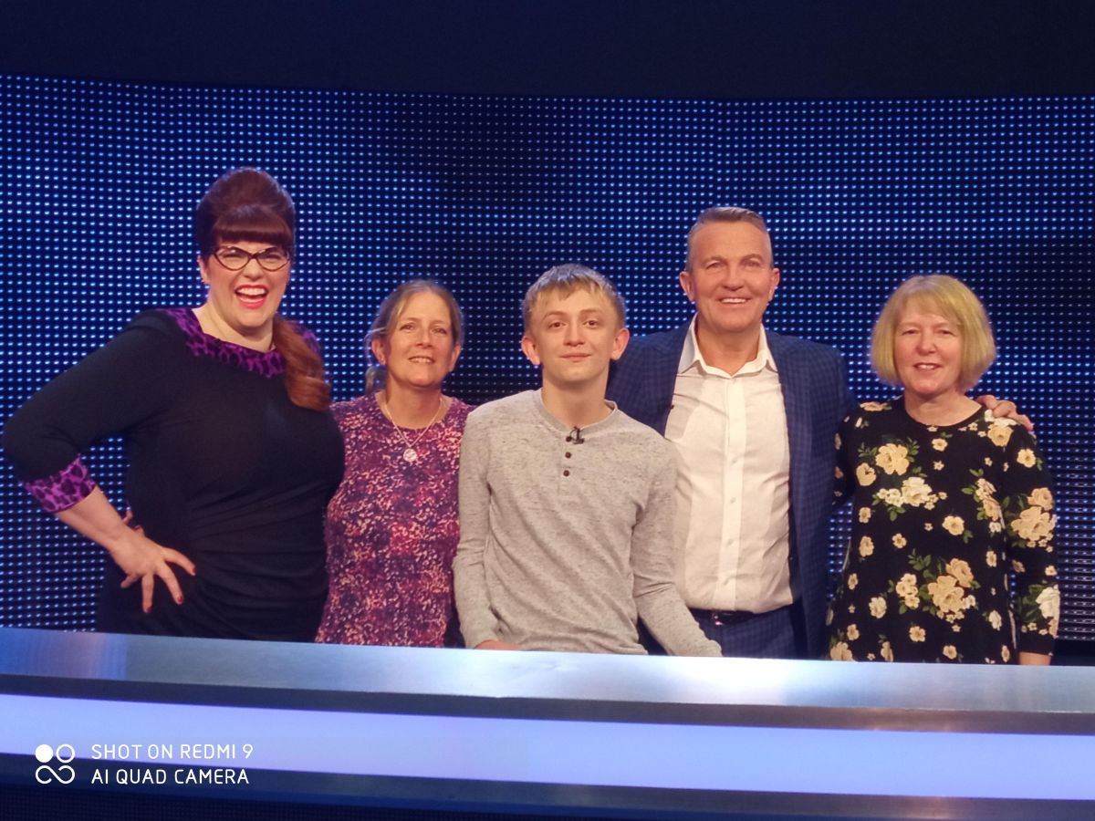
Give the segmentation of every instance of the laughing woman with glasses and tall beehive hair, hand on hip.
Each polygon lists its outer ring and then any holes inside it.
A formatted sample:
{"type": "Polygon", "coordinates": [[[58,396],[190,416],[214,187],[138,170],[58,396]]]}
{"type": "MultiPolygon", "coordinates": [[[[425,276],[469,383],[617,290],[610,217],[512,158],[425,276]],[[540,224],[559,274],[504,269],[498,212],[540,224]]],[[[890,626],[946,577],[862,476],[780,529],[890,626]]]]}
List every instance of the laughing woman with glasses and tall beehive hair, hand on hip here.
{"type": "Polygon", "coordinates": [[[323,512],[343,456],[315,342],[277,312],[295,228],[292,200],[269,175],[222,176],[195,213],[206,301],[139,314],[5,426],[16,477],[112,559],[101,631],[315,635],[323,512]],[[116,435],[131,522],[80,460],[116,435]]]}

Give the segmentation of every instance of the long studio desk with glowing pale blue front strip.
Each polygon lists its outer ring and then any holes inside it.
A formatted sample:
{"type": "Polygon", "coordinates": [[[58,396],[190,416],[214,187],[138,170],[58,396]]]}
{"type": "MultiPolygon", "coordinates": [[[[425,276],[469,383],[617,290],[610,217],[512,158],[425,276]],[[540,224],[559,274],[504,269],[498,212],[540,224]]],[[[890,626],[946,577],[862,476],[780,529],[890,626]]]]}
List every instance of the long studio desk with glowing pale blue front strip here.
{"type": "Polygon", "coordinates": [[[0,789],[431,818],[1093,818],[1095,668],[5,628],[0,789]]]}

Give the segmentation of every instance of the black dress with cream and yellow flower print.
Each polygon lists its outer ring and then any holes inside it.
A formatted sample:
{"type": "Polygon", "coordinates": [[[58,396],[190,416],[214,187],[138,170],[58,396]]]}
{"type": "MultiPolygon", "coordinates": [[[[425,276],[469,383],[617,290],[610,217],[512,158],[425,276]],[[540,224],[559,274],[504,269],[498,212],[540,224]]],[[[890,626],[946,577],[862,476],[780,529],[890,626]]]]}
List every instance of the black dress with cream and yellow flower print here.
{"type": "Polygon", "coordinates": [[[1052,652],[1060,614],[1052,483],[1022,426],[979,409],[923,425],[903,401],[861,405],[837,439],[852,541],[829,656],[1015,662],[1052,652]],[[1008,571],[1016,590],[1008,590],[1008,571]]]}

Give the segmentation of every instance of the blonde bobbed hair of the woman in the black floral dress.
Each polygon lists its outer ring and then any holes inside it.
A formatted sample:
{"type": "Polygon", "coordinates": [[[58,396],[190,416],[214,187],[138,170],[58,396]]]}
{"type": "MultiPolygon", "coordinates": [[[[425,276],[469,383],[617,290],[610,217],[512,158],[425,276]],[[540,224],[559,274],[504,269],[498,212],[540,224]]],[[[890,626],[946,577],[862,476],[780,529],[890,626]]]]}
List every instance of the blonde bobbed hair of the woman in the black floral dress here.
{"type": "Polygon", "coordinates": [[[996,358],[996,342],[984,305],[965,284],[945,274],[910,277],[886,300],[871,335],[871,365],[884,382],[900,385],[894,344],[901,315],[910,305],[938,313],[961,332],[959,388],[968,391],[996,358]]]}

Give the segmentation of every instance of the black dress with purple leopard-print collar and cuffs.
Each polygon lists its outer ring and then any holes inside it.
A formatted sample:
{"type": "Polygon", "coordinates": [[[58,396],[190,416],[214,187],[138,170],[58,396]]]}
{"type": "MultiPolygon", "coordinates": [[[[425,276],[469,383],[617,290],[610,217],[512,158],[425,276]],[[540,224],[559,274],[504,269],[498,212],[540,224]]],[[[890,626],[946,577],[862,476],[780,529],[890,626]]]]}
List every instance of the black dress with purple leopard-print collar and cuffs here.
{"type": "Polygon", "coordinates": [[[100,629],[314,637],[327,592],[323,512],[342,478],[342,438],[330,413],[289,401],[284,371],[278,351],[208,336],[188,309],[147,311],[11,417],[4,448],[47,509],[45,497],[68,495],[64,507],[87,496],[72,497],[73,460],[79,467],[89,444],[123,436],[135,521],[197,567],[194,578],[175,569],[184,604],[157,582],[146,615],[140,585],[122,590],[108,563],[100,629]]]}

